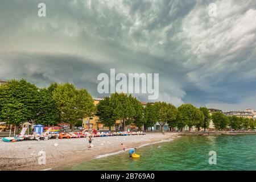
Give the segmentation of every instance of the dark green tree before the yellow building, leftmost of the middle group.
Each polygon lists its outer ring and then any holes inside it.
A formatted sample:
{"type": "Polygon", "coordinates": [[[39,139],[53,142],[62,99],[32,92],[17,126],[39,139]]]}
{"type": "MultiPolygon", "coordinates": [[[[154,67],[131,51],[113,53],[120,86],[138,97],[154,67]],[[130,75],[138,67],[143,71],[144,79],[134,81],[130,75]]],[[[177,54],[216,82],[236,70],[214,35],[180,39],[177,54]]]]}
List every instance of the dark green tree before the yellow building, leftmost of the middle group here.
{"type": "Polygon", "coordinates": [[[114,107],[111,105],[109,97],[105,97],[104,100],[98,103],[96,115],[100,117],[100,121],[104,126],[109,127],[109,131],[111,131],[111,127],[115,125],[115,121],[118,119],[114,115],[114,107]]]}

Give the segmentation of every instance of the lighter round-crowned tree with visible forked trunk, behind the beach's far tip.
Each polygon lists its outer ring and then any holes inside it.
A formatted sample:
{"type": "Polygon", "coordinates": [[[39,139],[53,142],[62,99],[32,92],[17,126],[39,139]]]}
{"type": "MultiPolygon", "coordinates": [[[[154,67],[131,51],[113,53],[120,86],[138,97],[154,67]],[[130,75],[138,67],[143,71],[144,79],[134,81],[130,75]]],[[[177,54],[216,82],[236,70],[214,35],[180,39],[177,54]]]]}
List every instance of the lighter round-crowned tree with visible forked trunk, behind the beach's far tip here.
{"type": "Polygon", "coordinates": [[[177,115],[177,109],[172,104],[167,104],[166,102],[155,102],[153,105],[156,110],[156,118],[161,126],[162,132],[164,132],[164,125],[167,122],[173,122],[177,115]]]}

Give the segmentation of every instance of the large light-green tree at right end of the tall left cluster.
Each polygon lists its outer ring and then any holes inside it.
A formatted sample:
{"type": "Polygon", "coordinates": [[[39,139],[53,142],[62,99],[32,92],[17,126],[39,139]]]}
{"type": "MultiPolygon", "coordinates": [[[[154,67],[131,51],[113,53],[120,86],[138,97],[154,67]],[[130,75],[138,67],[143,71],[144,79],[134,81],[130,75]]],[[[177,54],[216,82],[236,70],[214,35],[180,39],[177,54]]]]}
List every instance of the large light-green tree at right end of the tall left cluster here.
{"type": "Polygon", "coordinates": [[[90,117],[95,111],[92,96],[85,89],[77,90],[73,84],[60,84],[52,94],[61,119],[70,124],[72,131],[79,119],[90,117]]]}

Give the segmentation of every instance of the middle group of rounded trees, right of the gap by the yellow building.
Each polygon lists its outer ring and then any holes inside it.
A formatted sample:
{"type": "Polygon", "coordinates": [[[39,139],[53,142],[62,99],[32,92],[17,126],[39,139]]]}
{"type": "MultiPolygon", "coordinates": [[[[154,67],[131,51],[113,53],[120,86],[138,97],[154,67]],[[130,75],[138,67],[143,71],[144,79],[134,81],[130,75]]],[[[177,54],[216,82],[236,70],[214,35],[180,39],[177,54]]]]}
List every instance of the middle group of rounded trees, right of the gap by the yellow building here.
{"type": "Polygon", "coordinates": [[[114,126],[115,121],[120,120],[125,130],[126,126],[131,123],[139,128],[144,126],[147,129],[152,128],[157,122],[162,131],[166,123],[169,127],[178,127],[180,130],[183,130],[185,126],[188,126],[189,130],[193,126],[198,129],[201,127],[207,129],[210,122],[210,114],[206,107],[197,109],[191,104],[183,104],[176,108],[166,102],[148,103],[146,107],[143,107],[137,98],[123,93],[114,93],[101,100],[97,105],[96,115],[107,127],[114,126]]]}

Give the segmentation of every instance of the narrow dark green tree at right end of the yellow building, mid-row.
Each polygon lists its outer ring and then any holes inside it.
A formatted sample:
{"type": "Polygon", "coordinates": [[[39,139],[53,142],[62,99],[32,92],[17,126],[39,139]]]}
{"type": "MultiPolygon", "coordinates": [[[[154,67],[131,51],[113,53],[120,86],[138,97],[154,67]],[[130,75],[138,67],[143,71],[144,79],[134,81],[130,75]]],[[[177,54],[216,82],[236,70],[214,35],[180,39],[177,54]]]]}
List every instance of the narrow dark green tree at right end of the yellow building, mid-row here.
{"type": "Polygon", "coordinates": [[[156,109],[154,105],[147,103],[146,107],[144,108],[144,118],[146,128],[151,127],[152,131],[152,127],[158,121],[156,118],[156,109]]]}

